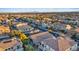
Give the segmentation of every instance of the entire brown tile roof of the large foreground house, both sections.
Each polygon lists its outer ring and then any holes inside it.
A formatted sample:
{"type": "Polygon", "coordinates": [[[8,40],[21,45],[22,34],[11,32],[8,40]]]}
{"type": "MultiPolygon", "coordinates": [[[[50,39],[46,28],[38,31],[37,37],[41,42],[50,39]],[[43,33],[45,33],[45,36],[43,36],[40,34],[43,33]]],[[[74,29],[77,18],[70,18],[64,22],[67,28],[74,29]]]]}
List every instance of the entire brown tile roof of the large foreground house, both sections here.
{"type": "Polygon", "coordinates": [[[36,42],[43,42],[45,45],[48,45],[56,51],[65,51],[66,49],[76,44],[76,42],[74,42],[68,37],[55,38],[52,34],[48,32],[35,34],[30,36],[30,38],[36,42]]]}

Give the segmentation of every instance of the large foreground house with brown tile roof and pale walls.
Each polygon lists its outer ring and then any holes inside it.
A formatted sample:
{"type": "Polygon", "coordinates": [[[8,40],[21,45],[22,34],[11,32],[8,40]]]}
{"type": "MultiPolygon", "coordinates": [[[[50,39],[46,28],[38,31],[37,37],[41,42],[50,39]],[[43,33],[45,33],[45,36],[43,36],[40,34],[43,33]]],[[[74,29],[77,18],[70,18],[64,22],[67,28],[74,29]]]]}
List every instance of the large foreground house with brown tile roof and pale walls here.
{"type": "Polygon", "coordinates": [[[33,44],[37,46],[38,50],[42,51],[66,51],[76,50],[77,43],[69,38],[55,37],[48,32],[42,32],[30,36],[33,44]]]}

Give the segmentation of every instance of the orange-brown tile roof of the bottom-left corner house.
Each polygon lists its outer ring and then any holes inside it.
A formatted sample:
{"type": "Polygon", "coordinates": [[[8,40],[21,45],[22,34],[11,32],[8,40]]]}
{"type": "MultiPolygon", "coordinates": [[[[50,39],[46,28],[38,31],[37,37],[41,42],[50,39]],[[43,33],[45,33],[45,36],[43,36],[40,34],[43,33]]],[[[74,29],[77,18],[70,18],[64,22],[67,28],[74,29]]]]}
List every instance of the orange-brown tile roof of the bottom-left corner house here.
{"type": "Polygon", "coordinates": [[[4,41],[1,41],[0,42],[0,49],[2,50],[5,50],[5,49],[8,49],[10,47],[13,47],[15,46],[16,44],[18,44],[19,41],[17,41],[16,39],[9,39],[9,40],[4,40],[4,41]]]}

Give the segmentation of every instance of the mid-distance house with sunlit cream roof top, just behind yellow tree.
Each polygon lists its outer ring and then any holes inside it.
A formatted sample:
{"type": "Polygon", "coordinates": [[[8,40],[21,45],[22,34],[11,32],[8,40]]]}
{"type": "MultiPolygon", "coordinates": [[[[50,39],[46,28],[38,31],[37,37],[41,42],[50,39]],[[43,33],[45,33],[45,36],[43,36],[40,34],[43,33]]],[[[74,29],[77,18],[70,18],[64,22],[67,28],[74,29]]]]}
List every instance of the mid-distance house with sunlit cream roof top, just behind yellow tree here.
{"type": "Polygon", "coordinates": [[[16,28],[25,34],[34,34],[34,33],[40,32],[39,29],[35,29],[35,28],[31,27],[27,23],[22,23],[22,24],[20,23],[20,24],[16,25],[16,28]]]}

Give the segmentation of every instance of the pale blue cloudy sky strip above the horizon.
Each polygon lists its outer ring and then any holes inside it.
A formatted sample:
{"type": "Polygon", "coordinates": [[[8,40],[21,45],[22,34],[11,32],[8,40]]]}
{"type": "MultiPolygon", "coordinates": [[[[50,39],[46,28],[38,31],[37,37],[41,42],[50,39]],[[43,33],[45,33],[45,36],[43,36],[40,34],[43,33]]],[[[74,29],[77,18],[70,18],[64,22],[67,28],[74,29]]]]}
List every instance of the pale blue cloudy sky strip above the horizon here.
{"type": "Polygon", "coordinates": [[[74,12],[79,8],[0,8],[0,12],[74,12]]]}

